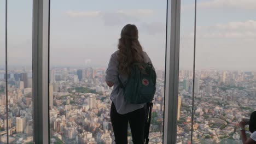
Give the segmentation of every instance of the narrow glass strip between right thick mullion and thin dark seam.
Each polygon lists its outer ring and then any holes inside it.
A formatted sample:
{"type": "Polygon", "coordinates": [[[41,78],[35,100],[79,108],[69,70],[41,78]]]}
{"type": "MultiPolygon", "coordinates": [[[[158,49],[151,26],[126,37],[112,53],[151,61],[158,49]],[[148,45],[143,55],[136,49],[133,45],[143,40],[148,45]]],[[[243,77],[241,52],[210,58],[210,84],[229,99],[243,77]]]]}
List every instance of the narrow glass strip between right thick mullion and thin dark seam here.
{"type": "Polygon", "coordinates": [[[194,56],[194,1],[181,1],[181,34],[179,47],[179,94],[177,113],[177,143],[191,141],[194,56]],[[186,9],[191,5],[190,9],[186,9]],[[188,38],[189,35],[189,38],[188,38]]]}

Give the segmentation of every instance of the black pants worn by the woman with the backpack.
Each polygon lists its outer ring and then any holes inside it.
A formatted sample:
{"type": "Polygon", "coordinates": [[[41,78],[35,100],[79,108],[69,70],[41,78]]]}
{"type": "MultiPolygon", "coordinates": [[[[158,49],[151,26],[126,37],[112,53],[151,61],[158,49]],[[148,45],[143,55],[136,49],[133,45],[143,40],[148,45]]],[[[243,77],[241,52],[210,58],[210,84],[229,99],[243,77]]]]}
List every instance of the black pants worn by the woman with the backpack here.
{"type": "Polygon", "coordinates": [[[111,104],[110,118],[115,135],[116,144],[127,143],[127,128],[130,124],[132,141],[134,144],[144,144],[144,127],[146,123],[147,106],[133,112],[120,115],[115,109],[114,103],[111,104]]]}

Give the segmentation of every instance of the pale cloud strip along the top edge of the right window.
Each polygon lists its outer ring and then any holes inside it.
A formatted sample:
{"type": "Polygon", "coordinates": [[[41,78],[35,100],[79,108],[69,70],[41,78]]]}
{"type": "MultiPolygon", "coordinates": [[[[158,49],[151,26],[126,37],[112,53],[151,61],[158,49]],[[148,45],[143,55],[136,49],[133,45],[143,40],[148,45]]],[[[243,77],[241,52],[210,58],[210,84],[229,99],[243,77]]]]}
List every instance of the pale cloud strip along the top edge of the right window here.
{"type": "MultiPolygon", "coordinates": [[[[194,8],[194,4],[182,5],[182,10],[194,8]]],[[[213,0],[197,3],[199,9],[256,9],[255,0],[213,0]]]]}

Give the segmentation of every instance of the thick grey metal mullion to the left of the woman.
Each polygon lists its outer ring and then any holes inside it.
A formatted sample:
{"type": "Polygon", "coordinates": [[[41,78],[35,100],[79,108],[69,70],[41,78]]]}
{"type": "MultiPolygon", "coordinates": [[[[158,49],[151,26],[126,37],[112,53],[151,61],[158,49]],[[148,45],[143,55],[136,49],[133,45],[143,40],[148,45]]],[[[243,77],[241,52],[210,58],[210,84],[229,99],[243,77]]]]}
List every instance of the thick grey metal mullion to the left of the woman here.
{"type": "Polygon", "coordinates": [[[49,0],[33,0],[33,139],[49,143],[49,0]]]}

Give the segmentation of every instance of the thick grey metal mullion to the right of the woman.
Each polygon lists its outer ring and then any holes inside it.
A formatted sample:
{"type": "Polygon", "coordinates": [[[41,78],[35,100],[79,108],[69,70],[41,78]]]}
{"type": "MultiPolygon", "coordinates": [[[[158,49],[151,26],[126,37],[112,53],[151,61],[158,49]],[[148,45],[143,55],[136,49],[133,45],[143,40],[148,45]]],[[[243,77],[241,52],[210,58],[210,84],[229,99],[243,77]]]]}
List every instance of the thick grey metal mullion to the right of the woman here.
{"type": "Polygon", "coordinates": [[[164,143],[176,143],[181,0],[167,1],[164,143]]]}

